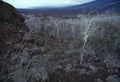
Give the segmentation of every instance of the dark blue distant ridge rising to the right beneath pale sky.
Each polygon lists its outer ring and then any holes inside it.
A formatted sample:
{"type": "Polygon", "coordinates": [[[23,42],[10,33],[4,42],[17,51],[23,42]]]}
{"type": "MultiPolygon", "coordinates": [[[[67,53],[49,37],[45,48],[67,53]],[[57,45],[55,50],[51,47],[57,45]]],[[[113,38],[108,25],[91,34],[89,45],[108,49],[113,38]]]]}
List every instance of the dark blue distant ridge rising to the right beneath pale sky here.
{"type": "Polygon", "coordinates": [[[105,11],[113,11],[120,13],[120,0],[95,0],[82,5],[69,6],[64,8],[35,8],[35,9],[19,9],[22,13],[42,13],[50,16],[87,14],[91,12],[102,13],[105,11]]]}

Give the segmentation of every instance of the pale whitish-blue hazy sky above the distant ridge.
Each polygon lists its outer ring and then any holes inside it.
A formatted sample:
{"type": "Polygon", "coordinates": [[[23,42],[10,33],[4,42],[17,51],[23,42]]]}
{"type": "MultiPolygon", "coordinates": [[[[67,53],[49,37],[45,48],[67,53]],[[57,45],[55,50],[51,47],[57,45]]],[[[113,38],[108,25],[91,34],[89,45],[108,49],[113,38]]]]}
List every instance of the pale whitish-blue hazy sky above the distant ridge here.
{"type": "Polygon", "coordinates": [[[93,0],[3,0],[16,8],[64,7],[87,3],[93,0]]]}

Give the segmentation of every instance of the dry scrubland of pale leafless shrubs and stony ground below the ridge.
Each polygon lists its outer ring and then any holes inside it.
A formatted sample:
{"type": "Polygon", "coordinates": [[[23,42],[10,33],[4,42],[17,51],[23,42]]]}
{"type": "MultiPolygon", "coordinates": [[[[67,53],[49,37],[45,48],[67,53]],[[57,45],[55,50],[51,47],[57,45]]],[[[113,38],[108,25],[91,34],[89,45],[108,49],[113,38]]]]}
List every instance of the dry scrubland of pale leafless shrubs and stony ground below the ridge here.
{"type": "Polygon", "coordinates": [[[1,73],[2,82],[96,82],[105,81],[110,75],[108,70],[120,71],[120,15],[24,17],[30,33],[14,44],[12,53],[1,57],[9,59],[2,65],[8,70],[1,73]],[[111,68],[110,59],[117,60],[111,68]],[[78,77],[74,79],[71,74],[78,77]]]}

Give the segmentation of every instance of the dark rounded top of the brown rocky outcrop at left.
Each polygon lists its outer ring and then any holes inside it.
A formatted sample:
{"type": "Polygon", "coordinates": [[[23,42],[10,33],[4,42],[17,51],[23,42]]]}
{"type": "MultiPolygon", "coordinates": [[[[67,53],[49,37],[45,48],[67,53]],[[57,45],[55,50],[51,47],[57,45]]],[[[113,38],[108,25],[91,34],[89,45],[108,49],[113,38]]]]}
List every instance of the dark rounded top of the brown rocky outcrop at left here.
{"type": "Polygon", "coordinates": [[[8,22],[17,26],[19,30],[29,31],[24,20],[24,17],[12,5],[0,1],[0,22],[8,22]]]}

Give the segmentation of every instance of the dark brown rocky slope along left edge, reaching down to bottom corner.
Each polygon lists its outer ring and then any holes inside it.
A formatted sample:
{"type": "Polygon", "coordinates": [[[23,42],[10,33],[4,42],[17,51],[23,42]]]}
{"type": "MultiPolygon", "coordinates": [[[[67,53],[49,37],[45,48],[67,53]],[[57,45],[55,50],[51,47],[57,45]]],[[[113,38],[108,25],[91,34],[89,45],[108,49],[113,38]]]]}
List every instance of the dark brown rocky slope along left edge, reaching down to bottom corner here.
{"type": "Polygon", "coordinates": [[[29,32],[24,20],[16,8],[0,1],[0,77],[7,74],[7,64],[11,58],[8,53],[11,53],[14,44],[20,42],[22,36],[29,32]]]}

